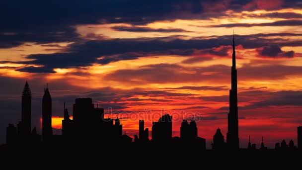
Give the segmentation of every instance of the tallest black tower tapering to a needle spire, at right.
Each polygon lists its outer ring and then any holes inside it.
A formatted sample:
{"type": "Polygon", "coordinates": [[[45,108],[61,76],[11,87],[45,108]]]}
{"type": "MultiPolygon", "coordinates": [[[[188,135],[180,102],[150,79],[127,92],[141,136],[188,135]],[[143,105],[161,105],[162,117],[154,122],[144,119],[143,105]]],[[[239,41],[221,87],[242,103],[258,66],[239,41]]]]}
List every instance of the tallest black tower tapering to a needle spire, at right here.
{"type": "Polygon", "coordinates": [[[227,114],[227,146],[239,149],[238,135],[237,70],[235,52],[235,34],[233,32],[233,54],[231,67],[231,89],[229,90],[229,113],[227,114]]]}

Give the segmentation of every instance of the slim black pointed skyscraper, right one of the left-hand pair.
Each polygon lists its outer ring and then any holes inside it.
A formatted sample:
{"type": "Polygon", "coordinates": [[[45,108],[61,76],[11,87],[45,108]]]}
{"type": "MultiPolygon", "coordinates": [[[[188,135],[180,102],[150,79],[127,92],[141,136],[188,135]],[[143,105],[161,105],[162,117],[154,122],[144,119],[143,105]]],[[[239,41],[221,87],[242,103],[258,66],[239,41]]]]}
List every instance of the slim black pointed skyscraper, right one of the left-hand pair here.
{"type": "Polygon", "coordinates": [[[51,127],[51,96],[48,90],[44,88],[44,95],[42,99],[42,141],[47,142],[51,139],[53,135],[51,127]]]}

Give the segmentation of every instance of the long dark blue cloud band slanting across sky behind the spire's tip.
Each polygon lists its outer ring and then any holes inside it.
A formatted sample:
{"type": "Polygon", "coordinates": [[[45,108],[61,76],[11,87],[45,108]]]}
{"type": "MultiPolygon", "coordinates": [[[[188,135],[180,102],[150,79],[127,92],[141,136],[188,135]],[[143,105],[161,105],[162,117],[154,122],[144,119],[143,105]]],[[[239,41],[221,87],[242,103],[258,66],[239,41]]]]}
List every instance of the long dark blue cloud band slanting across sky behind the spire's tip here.
{"type": "MultiPolygon", "coordinates": [[[[265,38],[266,36],[273,35],[276,34],[237,36],[236,43],[242,44],[247,49],[260,48],[277,41],[280,46],[302,46],[301,40],[289,42],[282,38],[265,38]]],[[[281,33],[277,35],[297,34],[281,33]]],[[[45,70],[51,72],[54,68],[91,66],[93,63],[108,64],[155,54],[188,56],[195,55],[195,53],[204,54],[203,50],[205,50],[213,55],[225,56],[227,53],[227,47],[225,46],[230,44],[230,39],[231,36],[213,36],[211,39],[203,39],[202,37],[188,40],[177,39],[175,37],[90,40],[73,43],[62,53],[29,55],[26,58],[31,61],[16,63],[42,65],[45,67],[45,70]],[[215,47],[217,44],[220,44],[220,47],[215,47]],[[201,50],[201,52],[196,52],[196,50],[201,50]]],[[[292,54],[291,52],[286,52],[282,55],[291,56],[292,54]]],[[[194,60],[189,62],[194,62],[194,60]]],[[[27,70],[31,71],[33,69],[27,70]]]]}

